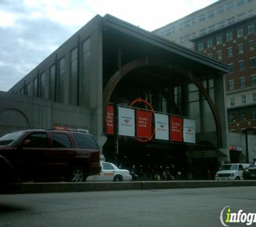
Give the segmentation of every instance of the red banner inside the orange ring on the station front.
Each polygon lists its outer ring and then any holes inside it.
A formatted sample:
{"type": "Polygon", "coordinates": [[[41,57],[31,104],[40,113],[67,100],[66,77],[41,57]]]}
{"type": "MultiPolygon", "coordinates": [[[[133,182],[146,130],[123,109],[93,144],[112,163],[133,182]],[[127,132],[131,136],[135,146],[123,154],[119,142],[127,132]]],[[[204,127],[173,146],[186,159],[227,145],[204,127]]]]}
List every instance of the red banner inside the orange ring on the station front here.
{"type": "Polygon", "coordinates": [[[149,111],[136,110],[136,129],[137,137],[151,137],[151,119],[152,113],[149,111]]]}

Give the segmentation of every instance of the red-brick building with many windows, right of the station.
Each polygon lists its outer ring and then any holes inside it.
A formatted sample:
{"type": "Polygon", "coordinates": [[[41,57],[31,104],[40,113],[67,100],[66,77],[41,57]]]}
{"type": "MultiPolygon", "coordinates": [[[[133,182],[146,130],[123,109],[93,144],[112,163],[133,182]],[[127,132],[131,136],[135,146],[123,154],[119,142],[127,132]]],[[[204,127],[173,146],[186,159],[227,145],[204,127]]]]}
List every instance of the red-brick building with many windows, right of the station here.
{"type": "Polygon", "coordinates": [[[195,40],[195,49],[229,65],[226,102],[229,130],[256,129],[256,16],[195,40]]]}

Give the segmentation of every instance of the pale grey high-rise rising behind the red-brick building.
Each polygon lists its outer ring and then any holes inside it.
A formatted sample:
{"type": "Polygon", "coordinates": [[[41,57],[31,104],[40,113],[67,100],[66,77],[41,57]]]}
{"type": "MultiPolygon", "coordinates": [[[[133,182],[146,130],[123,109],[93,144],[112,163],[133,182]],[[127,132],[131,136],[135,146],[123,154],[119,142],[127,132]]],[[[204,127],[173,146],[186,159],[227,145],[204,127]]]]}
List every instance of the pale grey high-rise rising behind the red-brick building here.
{"type": "Polygon", "coordinates": [[[158,36],[193,49],[192,39],[256,15],[256,0],[219,0],[153,31],[158,36]]]}

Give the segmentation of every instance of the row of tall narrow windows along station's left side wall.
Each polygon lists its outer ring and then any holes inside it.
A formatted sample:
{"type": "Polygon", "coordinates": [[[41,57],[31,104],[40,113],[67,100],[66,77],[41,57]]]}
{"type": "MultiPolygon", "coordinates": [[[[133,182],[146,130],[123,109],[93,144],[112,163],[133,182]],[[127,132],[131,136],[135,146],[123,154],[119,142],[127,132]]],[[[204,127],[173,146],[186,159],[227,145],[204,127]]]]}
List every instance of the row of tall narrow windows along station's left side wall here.
{"type": "MultiPolygon", "coordinates": [[[[88,68],[88,58],[90,55],[91,40],[87,39],[82,42],[82,68],[84,74],[88,68]]],[[[69,77],[70,100],[69,103],[73,105],[78,104],[78,47],[75,47],[70,52],[71,67],[69,77]]],[[[64,82],[66,75],[65,57],[59,59],[49,68],[49,93],[46,94],[46,72],[40,73],[32,81],[24,83],[24,86],[16,94],[34,96],[40,98],[50,98],[54,102],[64,102],[64,82]]],[[[13,91],[14,92],[14,91],[13,91]]]]}

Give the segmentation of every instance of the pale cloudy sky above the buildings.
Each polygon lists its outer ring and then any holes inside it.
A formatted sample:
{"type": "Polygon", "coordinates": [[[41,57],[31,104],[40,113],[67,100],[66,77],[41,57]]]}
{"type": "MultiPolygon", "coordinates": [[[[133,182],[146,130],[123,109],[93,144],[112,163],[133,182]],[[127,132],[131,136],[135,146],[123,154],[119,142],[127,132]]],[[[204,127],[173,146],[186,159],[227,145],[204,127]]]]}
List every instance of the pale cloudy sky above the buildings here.
{"type": "Polygon", "coordinates": [[[0,0],[0,90],[8,91],[94,16],[153,31],[218,0],[0,0]]]}

